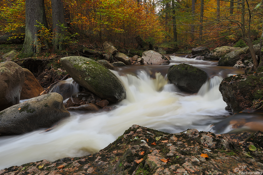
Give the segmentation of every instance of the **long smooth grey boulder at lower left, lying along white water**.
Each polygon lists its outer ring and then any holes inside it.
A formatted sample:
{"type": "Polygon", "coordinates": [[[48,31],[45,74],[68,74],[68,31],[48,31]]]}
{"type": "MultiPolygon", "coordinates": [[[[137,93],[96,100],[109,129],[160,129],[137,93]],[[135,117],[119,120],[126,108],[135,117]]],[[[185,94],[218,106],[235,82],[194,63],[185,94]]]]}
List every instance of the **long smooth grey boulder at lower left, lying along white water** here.
{"type": "Polygon", "coordinates": [[[0,112],[0,135],[17,135],[40,128],[49,128],[70,116],[63,97],[49,93],[13,105],[0,112]]]}

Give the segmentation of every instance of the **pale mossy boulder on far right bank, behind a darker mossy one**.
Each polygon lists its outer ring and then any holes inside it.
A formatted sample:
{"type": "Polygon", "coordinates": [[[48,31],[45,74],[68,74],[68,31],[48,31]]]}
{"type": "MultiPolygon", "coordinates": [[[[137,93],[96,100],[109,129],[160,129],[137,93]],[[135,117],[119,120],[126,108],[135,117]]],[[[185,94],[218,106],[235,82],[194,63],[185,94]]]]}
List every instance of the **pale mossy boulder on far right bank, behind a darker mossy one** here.
{"type": "Polygon", "coordinates": [[[240,47],[222,46],[212,50],[209,54],[204,56],[204,59],[218,61],[222,56],[225,56],[229,52],[241,49],[240,47]]]}

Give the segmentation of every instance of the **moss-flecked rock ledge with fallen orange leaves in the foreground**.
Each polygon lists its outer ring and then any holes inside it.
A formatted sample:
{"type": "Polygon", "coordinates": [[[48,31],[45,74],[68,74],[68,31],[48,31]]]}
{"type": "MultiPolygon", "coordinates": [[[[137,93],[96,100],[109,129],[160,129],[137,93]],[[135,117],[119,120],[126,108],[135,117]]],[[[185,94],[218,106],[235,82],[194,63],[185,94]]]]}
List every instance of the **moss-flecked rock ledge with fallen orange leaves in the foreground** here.
{"type": "Polygon", "coordinates": [[[260,131],[230,137],[196,129],[168,134],[133,125],[98,153],[13,166],[0,175],[262,174],[262,140],[260,131]],[[257,150],[250,151],[249,145],[257,150]]]}

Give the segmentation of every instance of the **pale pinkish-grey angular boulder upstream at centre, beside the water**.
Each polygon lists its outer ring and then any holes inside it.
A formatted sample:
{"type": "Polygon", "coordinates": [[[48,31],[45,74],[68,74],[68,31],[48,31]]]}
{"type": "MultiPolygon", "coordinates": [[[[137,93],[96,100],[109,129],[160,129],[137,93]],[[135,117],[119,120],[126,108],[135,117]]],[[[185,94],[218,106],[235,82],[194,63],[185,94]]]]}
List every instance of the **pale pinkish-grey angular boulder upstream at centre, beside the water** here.
{"type": "Polygon", "coordinates": [[[145,65],[166,65],[170,63],[165,56],[153,50],[143,52],[141,58],[143,59],[145,65]]]}

